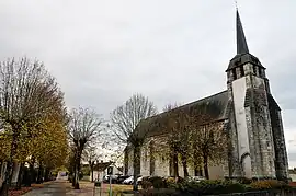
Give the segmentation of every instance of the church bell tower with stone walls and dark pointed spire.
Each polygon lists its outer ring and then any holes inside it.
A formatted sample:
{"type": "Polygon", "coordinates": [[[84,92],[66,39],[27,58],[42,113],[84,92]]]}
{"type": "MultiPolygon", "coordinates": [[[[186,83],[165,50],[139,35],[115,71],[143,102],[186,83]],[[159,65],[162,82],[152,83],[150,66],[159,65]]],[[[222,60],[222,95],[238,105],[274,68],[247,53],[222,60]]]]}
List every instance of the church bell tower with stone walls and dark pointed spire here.
{"type": "Polygon", "coordinates": [[[235,175],[285,178],[287,155],[281,109],[271,95],[265,68],[249,51],[238,10],[236,27],[237,55],[226,70],[235,175]]]}

